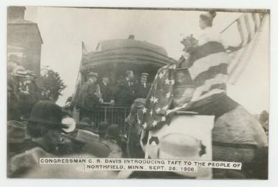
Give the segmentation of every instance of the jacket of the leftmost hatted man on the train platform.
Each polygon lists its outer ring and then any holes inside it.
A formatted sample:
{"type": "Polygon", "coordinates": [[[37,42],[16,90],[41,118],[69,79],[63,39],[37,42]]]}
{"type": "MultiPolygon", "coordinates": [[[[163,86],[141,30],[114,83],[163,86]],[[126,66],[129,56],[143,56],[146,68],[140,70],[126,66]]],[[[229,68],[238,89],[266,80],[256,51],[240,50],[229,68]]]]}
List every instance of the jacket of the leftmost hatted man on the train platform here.
{"type": "Polygon", "coordinates": [[[92,82],[91,80],[85,82],[81,87],[77,107],[93,111],[99,104],[99,98],[96,95],[96,91],[97,84],[95,82],[92,82]]]}

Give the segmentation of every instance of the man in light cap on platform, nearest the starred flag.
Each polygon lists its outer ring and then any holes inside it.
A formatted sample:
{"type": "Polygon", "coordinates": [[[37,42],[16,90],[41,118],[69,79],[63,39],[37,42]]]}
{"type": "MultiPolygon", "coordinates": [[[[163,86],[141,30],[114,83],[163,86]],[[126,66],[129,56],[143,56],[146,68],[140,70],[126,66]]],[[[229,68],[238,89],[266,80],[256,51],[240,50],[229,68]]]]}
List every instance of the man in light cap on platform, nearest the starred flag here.
{"type": "Polygon", "coordinates": [[[151,84],[147,83],[149,73],[141,73],[140,82],[136,85],[136,98],[147,98],[151,84]]]}

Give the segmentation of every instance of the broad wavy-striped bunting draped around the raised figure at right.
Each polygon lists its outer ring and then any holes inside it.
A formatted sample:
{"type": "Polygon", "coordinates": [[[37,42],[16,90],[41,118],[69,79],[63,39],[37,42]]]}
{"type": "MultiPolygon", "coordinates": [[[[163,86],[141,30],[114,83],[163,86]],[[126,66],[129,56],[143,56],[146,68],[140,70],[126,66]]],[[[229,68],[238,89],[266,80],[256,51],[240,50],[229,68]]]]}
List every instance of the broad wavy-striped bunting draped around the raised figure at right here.
{"type": "Polygon", "coordinates": [[[208,41],[190,56],[188,71],[195,83],[192,101],[226,91],[229,55],[220,42],[208,41]]]}

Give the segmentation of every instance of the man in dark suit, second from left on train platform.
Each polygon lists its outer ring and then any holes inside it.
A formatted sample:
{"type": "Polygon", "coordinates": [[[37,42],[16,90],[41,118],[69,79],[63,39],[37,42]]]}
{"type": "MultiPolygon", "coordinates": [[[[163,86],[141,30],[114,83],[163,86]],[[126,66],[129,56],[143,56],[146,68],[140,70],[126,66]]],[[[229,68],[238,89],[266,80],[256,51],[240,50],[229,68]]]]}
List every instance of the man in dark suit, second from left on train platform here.
{"type": "Polygon", "coordinates": [[[115,99],[108,76],[104,75],[102,77],[102,81],[99,82],[99,88],[101,92],[101,98],[104,100],[104,103],[110,103],[111,105],[114,105],[115,99]]]}

